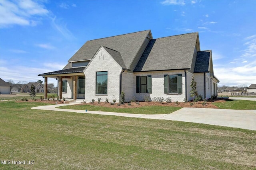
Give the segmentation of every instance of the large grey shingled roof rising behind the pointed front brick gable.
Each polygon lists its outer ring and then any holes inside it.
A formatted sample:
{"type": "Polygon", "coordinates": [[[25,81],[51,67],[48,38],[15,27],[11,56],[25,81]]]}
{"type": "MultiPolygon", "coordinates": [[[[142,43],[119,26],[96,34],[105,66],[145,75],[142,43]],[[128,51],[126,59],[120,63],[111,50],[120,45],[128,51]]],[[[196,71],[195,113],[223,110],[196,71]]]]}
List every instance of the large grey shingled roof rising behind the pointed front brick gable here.
{"type": "Polygon", "coordinates": [[[148,33],[150,30],[87,41],[68,62],[90,60],[102,45],[118,51],[124,64],[122,67],[129,69],[148,33]]]}

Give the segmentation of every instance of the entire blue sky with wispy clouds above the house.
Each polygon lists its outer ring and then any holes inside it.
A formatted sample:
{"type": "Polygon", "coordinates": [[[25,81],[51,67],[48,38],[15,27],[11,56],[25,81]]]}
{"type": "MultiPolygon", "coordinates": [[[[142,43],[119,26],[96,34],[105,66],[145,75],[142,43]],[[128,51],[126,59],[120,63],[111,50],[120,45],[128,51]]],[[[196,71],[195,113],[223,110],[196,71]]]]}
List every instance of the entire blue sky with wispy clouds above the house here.
{"type": "MultiPolygon", "coordinates": [[[[199,32],[219,86],[256,84],[256,1],[0,0],[0,77],[36,82],[91,39],[151,29],[153,38],[199,32]]],[[[49,83],[57,85],[53,78],[49,83]]]]}

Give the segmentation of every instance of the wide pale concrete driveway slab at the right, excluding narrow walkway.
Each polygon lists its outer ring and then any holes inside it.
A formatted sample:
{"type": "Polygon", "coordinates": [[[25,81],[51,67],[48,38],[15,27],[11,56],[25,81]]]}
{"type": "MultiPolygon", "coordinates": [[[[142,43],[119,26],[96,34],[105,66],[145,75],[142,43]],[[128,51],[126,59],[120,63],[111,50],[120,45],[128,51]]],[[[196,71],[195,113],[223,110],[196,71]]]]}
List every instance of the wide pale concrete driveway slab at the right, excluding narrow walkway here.
{"type": "Polygon", "coordinates": [[[256,110],[184,107],[160,119],[237,127],[256,131],[256,110]]]}

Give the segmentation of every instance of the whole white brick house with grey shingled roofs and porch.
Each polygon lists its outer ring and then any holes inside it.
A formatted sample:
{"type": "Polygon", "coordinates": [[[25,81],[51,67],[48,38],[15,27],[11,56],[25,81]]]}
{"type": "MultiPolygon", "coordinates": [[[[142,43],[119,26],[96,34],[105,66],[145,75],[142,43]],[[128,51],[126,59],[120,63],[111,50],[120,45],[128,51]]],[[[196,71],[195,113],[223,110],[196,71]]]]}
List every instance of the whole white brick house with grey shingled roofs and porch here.
{"type": "Polygon", "coordinates": [[[44,77],[46,89],[48,78],[56,78],[60,98],[86,102],[119,102],[122,91],[127,102],[145,96],[192,100],[192,76],[198,93],[210,98],[217,95],[219,82],[212,51],[200,50],[198,32],[153,39],[150,30],[87,41],[62,70],[38,76],[44,77]]]}

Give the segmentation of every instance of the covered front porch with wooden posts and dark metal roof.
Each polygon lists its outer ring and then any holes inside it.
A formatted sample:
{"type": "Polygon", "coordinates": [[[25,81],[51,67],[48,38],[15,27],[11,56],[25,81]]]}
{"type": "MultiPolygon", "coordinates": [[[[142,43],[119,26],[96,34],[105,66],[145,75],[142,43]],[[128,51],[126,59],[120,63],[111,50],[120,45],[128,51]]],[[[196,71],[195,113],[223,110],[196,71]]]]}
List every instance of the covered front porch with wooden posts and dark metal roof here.
{"type": "Polygon", "coordinates": [[[83,70],[84,68],[80,67],[39,74],[38,76],[44,77],[44,98],[47,98],[48,78],[55,78],[58,80],[59,99],[85,99],[85,76],[83,70]]]}

